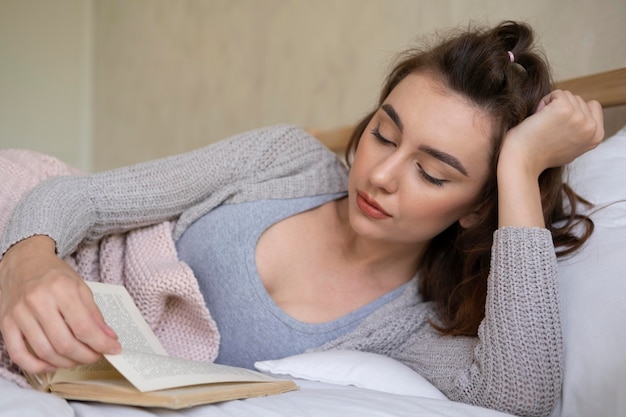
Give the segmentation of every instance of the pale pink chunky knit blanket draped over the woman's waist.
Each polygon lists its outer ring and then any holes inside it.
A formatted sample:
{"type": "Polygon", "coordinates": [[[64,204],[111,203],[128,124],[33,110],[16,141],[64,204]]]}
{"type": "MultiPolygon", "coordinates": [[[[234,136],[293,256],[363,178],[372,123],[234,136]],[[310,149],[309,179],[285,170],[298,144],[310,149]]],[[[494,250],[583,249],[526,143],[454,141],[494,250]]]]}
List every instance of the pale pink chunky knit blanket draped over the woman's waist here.
{"type": "MultiPolygon", "coordinates": [[[[19,200],[39,182],[80,175],[56,158],[25,150],[0,151],[0,232],[19,200]]],[[[124,285],[146,321],[172,356],[213,361],[217,326],[193,272],[178,260],[173,224],[160,223],[82,244],[65,260],[85,280],[124,285]]],[[[28,386],[0,335],[0,377],[28,386]]]]}

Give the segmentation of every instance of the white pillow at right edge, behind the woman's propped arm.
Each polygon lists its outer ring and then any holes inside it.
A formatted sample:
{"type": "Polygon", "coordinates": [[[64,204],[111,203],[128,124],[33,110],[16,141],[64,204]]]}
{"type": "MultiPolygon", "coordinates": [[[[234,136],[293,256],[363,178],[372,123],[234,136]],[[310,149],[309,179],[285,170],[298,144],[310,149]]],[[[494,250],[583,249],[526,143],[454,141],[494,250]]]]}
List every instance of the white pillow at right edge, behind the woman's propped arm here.
{"type": "Polygon", "coordinates": [[[559,261],[565,371],[553,416],[626,415],[626,128],[571,167],[570,185],[603,208],[595,231],[559,261]]]}

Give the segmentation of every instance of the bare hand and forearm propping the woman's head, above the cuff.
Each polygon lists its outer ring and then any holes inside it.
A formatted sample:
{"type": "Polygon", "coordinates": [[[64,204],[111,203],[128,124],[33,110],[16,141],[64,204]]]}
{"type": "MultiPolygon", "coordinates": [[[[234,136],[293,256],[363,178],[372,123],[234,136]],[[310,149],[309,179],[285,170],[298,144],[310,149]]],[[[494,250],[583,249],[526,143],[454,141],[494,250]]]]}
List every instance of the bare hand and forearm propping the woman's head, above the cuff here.
{"type": "Polygon", "coordinates": [[[509,130],[498,158],[498,225],[545,227],[538,178],[595,148],[604,137],[602,107],[569,91],[545,96],[509,130]]]}

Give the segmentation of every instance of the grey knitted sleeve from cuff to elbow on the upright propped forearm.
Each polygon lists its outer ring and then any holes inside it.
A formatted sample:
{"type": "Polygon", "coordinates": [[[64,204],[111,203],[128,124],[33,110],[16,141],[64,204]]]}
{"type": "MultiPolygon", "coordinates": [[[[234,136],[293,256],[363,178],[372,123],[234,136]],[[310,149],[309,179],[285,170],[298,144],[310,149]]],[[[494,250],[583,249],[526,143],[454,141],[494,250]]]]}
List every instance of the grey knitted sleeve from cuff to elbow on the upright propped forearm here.
{"type": "Polygon", "coordinates": [[[469,347],[467,366],[451,367],[450,375],[429,364],[451,399],[518,416],[550,415],[561,392],[563,339],[548,230],[507,227],[495,234],[485,318],[469,347]]]}

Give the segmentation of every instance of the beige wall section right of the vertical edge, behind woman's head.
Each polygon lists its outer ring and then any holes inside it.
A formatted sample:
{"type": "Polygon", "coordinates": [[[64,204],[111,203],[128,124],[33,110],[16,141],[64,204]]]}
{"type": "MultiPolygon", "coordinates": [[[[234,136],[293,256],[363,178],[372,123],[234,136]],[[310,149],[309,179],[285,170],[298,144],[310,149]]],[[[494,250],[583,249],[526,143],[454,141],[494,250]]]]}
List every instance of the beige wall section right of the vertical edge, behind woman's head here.
{"type": "Polygon", "coordinates": [[[626,65],[624,0],[96,2],[96,167],[371,108],[389,59],[468,19],[524,19],[560,78],[626,65]]]}

